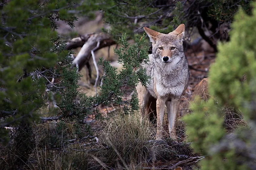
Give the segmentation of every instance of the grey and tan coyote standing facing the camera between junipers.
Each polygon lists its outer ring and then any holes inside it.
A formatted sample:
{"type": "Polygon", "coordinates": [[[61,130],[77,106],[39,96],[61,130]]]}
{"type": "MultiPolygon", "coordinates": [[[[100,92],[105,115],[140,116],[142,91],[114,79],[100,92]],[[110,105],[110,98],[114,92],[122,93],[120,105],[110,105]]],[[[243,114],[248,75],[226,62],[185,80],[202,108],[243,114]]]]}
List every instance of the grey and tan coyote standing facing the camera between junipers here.
{"type": "MultiPolygon", "coordinates": [[[[157,133],[156,140],[162,140],[163,117],[167,107],[168,129],[170,137],[177,140],[174,131],[179,108],[179,99],[188,87],[188,60],[184,55],[183,37],[185,25],[179,25],[169,34],[162,34],[144,27],[152,42],[150,64],[145,65],[146,72],[151,76],[147,87],[139,84],[136,87],[139,98],[141,116],[148,115],[151,101],[156,101],[157,133]],[[145,113],[146,112],[146,113],[145,113]]],[[[154,105],[154,103],[152,103],[154,105]]]]}

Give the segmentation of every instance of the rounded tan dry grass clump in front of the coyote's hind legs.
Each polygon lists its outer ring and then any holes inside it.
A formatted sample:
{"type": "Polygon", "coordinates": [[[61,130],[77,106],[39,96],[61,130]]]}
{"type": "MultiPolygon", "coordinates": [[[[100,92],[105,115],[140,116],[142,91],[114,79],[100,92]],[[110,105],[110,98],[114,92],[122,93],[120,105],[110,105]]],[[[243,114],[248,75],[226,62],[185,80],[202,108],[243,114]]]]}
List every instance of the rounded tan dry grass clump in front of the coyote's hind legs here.
{"type": "Polygon", "coordinates": [[[155,128],[139,113],[125,115],[113,113],[102,123],[100,143],[101,162],[111,167],[139,167],[155,161],[155,128]]]}

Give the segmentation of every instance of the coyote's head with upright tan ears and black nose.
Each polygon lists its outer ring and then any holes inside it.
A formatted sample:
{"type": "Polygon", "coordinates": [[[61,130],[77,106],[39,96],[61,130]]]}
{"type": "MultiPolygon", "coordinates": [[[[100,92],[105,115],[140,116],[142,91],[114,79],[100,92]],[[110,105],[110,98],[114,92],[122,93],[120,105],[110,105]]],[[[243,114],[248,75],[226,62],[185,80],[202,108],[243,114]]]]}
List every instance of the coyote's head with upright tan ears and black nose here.
{"type": "Polygon", "coordinates": [[[153,60],[157,63],[178,63],[184,56],[182,41],[185,34],[185,25],[180,24],[169,34],[162,34],[144,27],[152,42],[153,60]]]}

